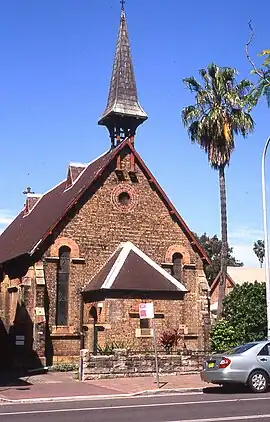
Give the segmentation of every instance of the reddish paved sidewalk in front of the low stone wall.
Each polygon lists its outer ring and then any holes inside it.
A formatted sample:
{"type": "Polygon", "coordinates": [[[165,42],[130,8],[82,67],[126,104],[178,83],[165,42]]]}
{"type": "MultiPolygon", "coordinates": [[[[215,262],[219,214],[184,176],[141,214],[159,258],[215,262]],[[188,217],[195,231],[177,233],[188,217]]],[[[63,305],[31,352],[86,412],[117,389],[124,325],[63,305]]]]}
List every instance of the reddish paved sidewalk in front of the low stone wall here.
{"type": "MultiPolygon", "coordinates": [[[[199,374],[161,375],[160,390],[185,391],[186,389],[202,389],[207,384],[200,380],[199,374]]],[[[132,394],[155,393],[157,385],[155,377],[133,377],[117,379],[100,379],[79,382],[73,373],[48,372],[18,378],[12,382],[1,382],[0,402],[37,401],[57,399],[83,399],[90,396],[123,396],[132,394]]]]}

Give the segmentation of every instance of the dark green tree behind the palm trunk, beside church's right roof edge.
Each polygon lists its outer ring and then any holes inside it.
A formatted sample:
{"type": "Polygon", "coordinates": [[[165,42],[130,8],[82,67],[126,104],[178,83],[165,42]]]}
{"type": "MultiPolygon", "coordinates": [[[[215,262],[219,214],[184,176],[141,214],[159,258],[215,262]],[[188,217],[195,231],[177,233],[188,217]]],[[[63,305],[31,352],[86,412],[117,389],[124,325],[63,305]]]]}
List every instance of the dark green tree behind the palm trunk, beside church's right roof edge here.
{"type": "MultiPolygon", "coordinates": [[[[211,260],[211,264],[205,265],[205,275],[207,278],[207,281],[209,285],[213,283],[216,276],[220,272],[220,260],[221,260],[221,247],[222,242],[215,234],[212,237],[207,236],[206,233],[203,233],[201,236],[198,236],[196,233],[194,233],[196,238],[198,239],[200,245],[204,248],[207,255],[209,256],[211,260]]],[[[243,262],[238,261],[233,256],[233,248],[230,248],[228,246],[228,255],[227,255],[227,265],[230,267],[242,267],[243,262]]]]}

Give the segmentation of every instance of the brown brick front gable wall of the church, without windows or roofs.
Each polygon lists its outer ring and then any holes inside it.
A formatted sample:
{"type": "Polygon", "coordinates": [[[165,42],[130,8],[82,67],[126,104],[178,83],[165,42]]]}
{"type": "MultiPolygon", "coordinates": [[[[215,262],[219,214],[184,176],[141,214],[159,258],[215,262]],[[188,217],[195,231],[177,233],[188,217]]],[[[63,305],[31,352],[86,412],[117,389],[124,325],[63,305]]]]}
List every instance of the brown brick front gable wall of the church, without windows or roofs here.
{"type": "MultiPolygon", "coordinates": [[[[171,263],[172,254],[180,251],[183,255],[182,282],[189,290],[184,301],[159,301],[156,311],[164,314],[164,319],[157,320],[158,335],[167,327],[186,326],[189,347],[204,349],[206,339],[203,336],[204,318],[208,318],[207,283],[203,272],[203,263],[179,227],[174,221],[154,187],[136,165],[136,182],[130,180],[128,169],[130,155],[123,154],[122,169],[124,180],[119,181],[116,173],[111,171],[93,196],[80,208],[74,218],[67,223],[59,234],[49,254],[55,256],[55,245],[63,244],[65,239],[76,242],[78,258],[82,260],[71,263],[69,286],[69,323],[62,333],[55,327],[56,309],[56,271],[57,262],[47,262],[46,283],[50,298],[49,326],[53,344],[57,342],[57,354],[74,355],[73,338],[79,333],[80,295],[79,292],[92,276],[103,266],[104,262],[117,248],[119,243],[131,241],[159,265],[171,263]],[[115,196],[121,191],[129,191],[131,205],[121,209],[115,203],[115,196]],[[169,260],[169,262],[168,262],[169,260]],[[69,333],[70,337],[67,337],[69,333]],[[60,341],[61,339],[61,341],[60,341]],[[59,349],[60,348],[60,349],[59,349]],[[62,348],[62,349],[61,349],[62,348]]],[[[70,245],[69,241],[66,241],[70,245]]],[[[98,343],[128,342],[135,349],[149,347],[152,339],[136,338],[139,320],[130,318],[130,312],[138,312],[140,300],[107,299],[98,312],[98,343]],[[103,326],[102,326],[103,324],[103,326]]],[[[89,316],[91,306],[85,305],[84,325],[89,326],[87,341],[92,344],[93,321],[89,316]],[[89,339],[90,336],[90,339],[89,339]]],[[[77,351],[79,342],[77,340],[77,351]]],[[[91,348],[91,346],[90,346],[91,348]]]]}

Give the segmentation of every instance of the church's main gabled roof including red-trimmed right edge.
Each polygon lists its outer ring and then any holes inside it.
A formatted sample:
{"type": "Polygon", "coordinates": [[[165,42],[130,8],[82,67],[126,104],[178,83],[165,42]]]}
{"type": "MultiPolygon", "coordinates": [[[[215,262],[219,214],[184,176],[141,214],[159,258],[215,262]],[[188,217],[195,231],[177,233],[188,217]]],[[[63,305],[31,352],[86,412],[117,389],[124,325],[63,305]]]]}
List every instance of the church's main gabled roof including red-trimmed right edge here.
{"type": "Polygon", "coordinates": [[[197,249],[201,258],[210,262],[206,252],[176,211],[140,155],[133,148],[129,139],[126,139],[116,148],[90,163],[70,187],[66,188],[67,181],[64,180],[45,193],[27,215],[24,216],[24,211],[21,211],[0,236],[0,263],[10,261],[21,255],[32,255],[37,247],[52,233],[56,225],[65,217],[72,206],[79,201],[84,192],[102,175],[109,164],[125,147],[129,148],[134,154],[138,165],[144,171],[149,182],[155,186],[156,191],[167,205],[170,213],[174,215],[179,226],[193,247],[197,249]]]}

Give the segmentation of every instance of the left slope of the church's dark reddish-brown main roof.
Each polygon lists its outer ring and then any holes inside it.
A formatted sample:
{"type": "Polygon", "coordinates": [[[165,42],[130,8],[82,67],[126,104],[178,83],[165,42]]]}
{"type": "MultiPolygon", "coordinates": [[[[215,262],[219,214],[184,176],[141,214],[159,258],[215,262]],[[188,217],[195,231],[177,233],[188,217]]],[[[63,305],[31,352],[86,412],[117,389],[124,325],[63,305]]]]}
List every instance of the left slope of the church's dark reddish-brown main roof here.
{"type": "Polygon", "coordinates": [[[27,215],[21,211],[0,236],[0,263],[32,254],[123,146],[88,164],[70,187],[64,180],[46,192],[27,215]]]}

